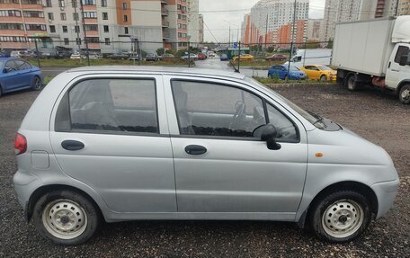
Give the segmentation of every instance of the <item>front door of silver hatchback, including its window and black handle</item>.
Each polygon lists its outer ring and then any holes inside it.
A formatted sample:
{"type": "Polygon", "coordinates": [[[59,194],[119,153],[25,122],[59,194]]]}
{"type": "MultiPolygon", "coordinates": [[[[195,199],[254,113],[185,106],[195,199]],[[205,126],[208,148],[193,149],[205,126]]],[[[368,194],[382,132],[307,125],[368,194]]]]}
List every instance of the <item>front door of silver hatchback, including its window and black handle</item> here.
{"type": "MultiPolygon", "coordinates": [[[[245,85],[173,79],[165,85],[179,212],[277,212],[294,218],[307,171],[306,134],[245,85]],[[169,101],[169,100],[168,100],[169,101]],[[268,117],[266,117],[266,114],[268,117]],[[280,150],[253,138],[271,123],[280,150]]],[[[272,218],[272,217],[271,217],[272,218]]]]}

